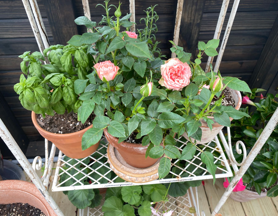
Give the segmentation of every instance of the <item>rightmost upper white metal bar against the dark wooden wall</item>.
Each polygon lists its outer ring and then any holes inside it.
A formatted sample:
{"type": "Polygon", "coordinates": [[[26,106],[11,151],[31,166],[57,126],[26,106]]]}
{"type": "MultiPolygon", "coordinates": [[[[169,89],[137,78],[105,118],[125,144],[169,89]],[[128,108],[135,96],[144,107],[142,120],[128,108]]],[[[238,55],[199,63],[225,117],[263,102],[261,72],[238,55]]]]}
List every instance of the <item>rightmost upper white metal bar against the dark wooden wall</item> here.
{"type": "Polygon", "coordinates": [[[225,47],[226,47],[226,44],[227,44],[227,41],[228,41],[228,38],[229,38],[229,35],[230,35],[230,32],[231,32],[231,28],[232,28],[232,25],[233,25],[233,22],[234,22],[234,17],[237,13],[237,10],[238,10],[239,1],[240,0],[234,0],[233,8],[231,10],[229,21],[228,21],[228,24],[227,24],[227,27],[226,27],[226,30],[225,30],[225,33],[224,33],[224,37],[223,37],[223,40],[222,40],[222,43],[221,43],[221,47],[220,47],[220,50],[219,50],[219,54],[217,56],[217,60],[216,60],[213,72],[217,72],[218,68],[220,66],[220,63],[221,63],[221,60],[222,60],[222,57],[223,57],[223,54],[224,54],[224,51],[225,51],[225,47]]]}

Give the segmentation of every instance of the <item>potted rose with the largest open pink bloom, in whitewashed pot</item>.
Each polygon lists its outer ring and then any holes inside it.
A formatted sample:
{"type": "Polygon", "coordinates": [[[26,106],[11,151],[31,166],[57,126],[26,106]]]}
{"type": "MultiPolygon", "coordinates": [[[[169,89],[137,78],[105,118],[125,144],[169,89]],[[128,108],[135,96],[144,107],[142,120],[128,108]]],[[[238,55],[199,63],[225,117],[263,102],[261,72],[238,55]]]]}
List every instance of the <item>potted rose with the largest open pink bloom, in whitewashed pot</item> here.
{"type": "Polygon", "coordinates": [[[171,51],[178,58],[169,59],[161,66],[162,78],[159,83],[167,89],[181,92],[178,110],[186,121],[183,126],[175,128],[175,132],[181,134],[181,131],[185,131],[184,136],[187,139],[191,137],[192,141],[195,139],[197,144],[208,143],[224,126],[230,127],[233,118],[248,116],[238,111],[241,106],[239,91],[250,92],[250,89],[238,78],[221,77],[219,71],[213,73],[212,65],[210,73],[204,73],[200,68],[204,53],[217,55],[215,49],[219,39],[209,40],[207,44],[199,41],[199,53],[194,62],[190,61],[190,53],[170,42],[174,45],[171,51]]]}

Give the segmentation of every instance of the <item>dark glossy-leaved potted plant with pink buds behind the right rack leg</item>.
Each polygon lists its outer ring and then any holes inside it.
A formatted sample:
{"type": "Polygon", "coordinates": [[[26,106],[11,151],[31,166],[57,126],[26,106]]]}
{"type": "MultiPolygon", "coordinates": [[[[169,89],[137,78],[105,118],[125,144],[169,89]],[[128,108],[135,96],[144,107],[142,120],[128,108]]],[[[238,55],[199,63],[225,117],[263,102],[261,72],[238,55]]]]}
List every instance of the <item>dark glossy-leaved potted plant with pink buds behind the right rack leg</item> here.
{"type": "MultiPolygon", "coordinates": [[[[232,124],[232,143],[242,140],[246,144],[247,153],[251,151],[259,135],[262,133],[267,121],[278,106],[275,100],[278,95],[267,94],[266,97],[256,96],[256,93],[264,89],[252,89],[252,93],[246,93],[242,98],[242,104],[255,107],[254,112],[249,112],[249,107],[241,108],[242,111],[250,114],[251,118],[235,120],[232,124]],[[250,99],[260,98],[259,102],[250,99]]],[[[242,181],[246,189],[241,192],[233,192],[231,198],[236,201],[249,201],[260,197],[276,197],[278,195],[277,169],[278,169],[278,128],[272,132],[260,153],[256,156],[247,172],[243,175],[242,181]]],[[[233,146],[236,160],[242,160],[242,155],[236,153],[233,146]]]]}

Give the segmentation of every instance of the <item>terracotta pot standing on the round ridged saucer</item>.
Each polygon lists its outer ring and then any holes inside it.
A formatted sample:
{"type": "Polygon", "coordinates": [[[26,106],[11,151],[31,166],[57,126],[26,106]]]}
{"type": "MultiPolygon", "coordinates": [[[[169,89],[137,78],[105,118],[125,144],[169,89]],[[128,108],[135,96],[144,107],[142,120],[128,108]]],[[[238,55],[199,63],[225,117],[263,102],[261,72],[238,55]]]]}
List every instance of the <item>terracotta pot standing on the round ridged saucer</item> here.
{"type": "Polygon", "coordinates": [[[107,131],[107,128],[105,128],[103,132],[107,141],[118,150],[120,155],[129,165],[136,168],[147,168],[158,161],[159,158],[145,158],[145,154],[149,145],[142,146],[142,144],[128,143],[125,141],[118,143],[119,139],[110,135],[107,131]]]}

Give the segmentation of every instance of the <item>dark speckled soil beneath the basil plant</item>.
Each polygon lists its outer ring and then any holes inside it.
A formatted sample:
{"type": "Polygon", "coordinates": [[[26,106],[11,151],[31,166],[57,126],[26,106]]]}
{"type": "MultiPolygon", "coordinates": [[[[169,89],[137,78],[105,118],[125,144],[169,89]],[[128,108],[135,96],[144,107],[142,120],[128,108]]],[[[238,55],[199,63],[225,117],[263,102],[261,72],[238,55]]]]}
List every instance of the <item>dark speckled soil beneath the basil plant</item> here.
{"type": "Polygon", "coordinates": [[[92,124],[95,114],[91,114],[84,124],[77,120],[77,113],[65,111],[65,114],[57,114],[54,116],[37,114],[37,122],[44,130],[55,134],[69,134],[81,131],[92,124]]]}

